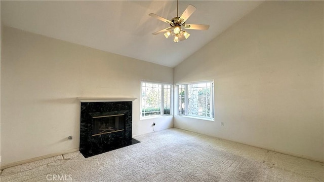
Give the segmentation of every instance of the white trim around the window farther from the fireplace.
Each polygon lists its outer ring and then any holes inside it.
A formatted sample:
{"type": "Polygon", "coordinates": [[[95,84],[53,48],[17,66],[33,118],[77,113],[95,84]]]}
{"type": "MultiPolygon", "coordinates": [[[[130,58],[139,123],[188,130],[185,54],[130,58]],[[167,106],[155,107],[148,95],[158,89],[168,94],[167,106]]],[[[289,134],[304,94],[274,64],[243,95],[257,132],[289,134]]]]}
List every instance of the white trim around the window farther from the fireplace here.
{"type": "MultiPolygon", "coordinates": [[[[181,117],[187,117],[187,118],[194,118],[194,119],[200,119],[200,120],[207,120],[207,121],[215,121],[215,82],[214,80],[204,80],[204,81],[194,81],[194,82],[181,82],[181,83],[176,83],[175,84],[175,104],[174,104],[174,112],[176,116],[181,116],[181,117]],[[212,83],[213,87],[211,88],[211,93],[212,93],[212,99],[211,101],[213,102],[213,108],[212,109],[212,117],[200,117],[200,116],[192,116],[188,115],[188,108],[185,110],[185,115],[180,115],[179,114],[179,88],[178,85],[188,85],[188,84],[198,84],[198,83],[212,83]]],[[[185,87],[185,92],[188,93],[188,86],[185,87]]],[[[185,105],[188,107],[188,94],[185,94],[185,105]]]]}

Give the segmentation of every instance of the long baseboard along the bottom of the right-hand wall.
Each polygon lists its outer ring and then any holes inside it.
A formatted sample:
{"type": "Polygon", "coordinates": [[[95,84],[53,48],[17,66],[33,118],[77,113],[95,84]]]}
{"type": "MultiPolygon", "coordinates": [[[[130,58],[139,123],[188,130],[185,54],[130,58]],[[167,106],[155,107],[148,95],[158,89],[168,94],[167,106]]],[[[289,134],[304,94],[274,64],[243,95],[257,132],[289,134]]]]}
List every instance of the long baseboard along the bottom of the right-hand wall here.
{"type": "MultiPolygon", "coordinates": [[[[177,127],[174,127],[174,128],[177,128],[177,127]]],[[[194,132],[194,133],[198,133],[196,131],[191,131],[191,130],[187,130],[187,129],[182,129],[182,128],[178,128],[178,129],[185,130],[185,131],[190,131],[190,132],[194,132]]],[[[203,134],[203,133],[198,133],[198,134],[203,134]]],[[[204,135],[207,135],[207,134],[204,134],[204,135]]],[[[212,135],[207,135],[207,136],[212,136],[212,135]]],[[[252,147],[257,147],[257,148],[260,148],[260,149],[265,149],[265,150],[272,151],[272,152],[276,152],[276,153],[280,153],[280,154],[286,154],[286,155],[295,156],[295,157],[299,157],[299,158],[303,158],[303,159],[308,159],[308,160],[311,160],[311,161],[316,161],[316,162],[324,163],[324,160],[321,160],[321,159],[316,159],[316,158],[312,158],[312,157],[309,157],[309,156],[304,156],[304,155],[290,153],[290,152],[286,152],[286,151],[280,151],[280,150],[276,150],[276,149],[271,149],[271,148],[267,148],[267,147],[264,147],[264,146],[260,146],[260,145],[254,144],[254,143],[234,141],[234,140],[229,140],[229,139],[225,139],[225,138],[221,138],[221,137],[216,137],[216,136],[212,136],[212,137],[219,138],[219,139],[226,140],[226,141],[235,142],[235,143],[250,145],[252,147]]]]}

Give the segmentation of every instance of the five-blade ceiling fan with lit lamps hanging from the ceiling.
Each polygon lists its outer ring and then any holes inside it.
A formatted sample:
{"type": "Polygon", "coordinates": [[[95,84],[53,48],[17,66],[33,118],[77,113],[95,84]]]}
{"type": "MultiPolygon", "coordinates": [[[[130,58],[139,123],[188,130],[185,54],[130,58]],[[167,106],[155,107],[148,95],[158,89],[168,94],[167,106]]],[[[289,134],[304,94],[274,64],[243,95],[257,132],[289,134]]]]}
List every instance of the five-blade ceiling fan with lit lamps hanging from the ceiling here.
{"type": "Polygon", "coordinates": [[[177,17],[172,18],[171,20],[167,20],[163,17],[160,17],[154,13],[150,13],[149,16],[154,17],[158,20],[161,20],[163,22],[169,23],[171,27],[165,28],[163,30],[156,31],[152,33],[153,35],[164,33],[165,37],[168,39],[170,35],[174,35],[174,42],[179,42],[188,39],[190,34],[181,28],[185,29],[193,29],[193,30],[207,30],[209,28],[209,25],[200,25],[200,24],[186,24],[186,20],[192,15],[193,12],[196,11],[196,7],[192,5],[188,5],[187,9],[182,13],[182,15],[178,16],[178,6],[179,1],[177,0],[177,17]]]}

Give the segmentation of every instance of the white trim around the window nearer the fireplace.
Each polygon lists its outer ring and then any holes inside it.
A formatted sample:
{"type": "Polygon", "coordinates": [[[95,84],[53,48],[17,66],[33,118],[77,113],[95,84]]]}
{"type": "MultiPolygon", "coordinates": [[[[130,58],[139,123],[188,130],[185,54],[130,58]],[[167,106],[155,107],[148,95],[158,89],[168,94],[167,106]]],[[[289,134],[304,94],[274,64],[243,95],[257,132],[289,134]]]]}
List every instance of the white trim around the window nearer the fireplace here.
{"type": "MultiPolygon", "coordinates": [[[[140,95],[140,120],[147,120],[147,119],[152,119],[152,118],[161,118],[161,117],[168,117],[168,116],[173,116],[173,98],[174,98],[174,92],[173,92],[173,83],[169,83],[169,82],[159,82],[159,81],[151,81],[151,80],[141,80],[141,95],[140,95]],[[163,90],[164,93],[164,87],[163,85],[170,85],[170,114],[169,115],[165,115],[164,114],[164,107],[161,107],[161,114],[160,115],[154,115],[154,116],[142,116],[142,83],[151,83],[151,84],[161,84],[162,88],[161,90],[163,90]]],[[[161,106],[164,104],[164,94],[161,94],[161,106]]]]}

